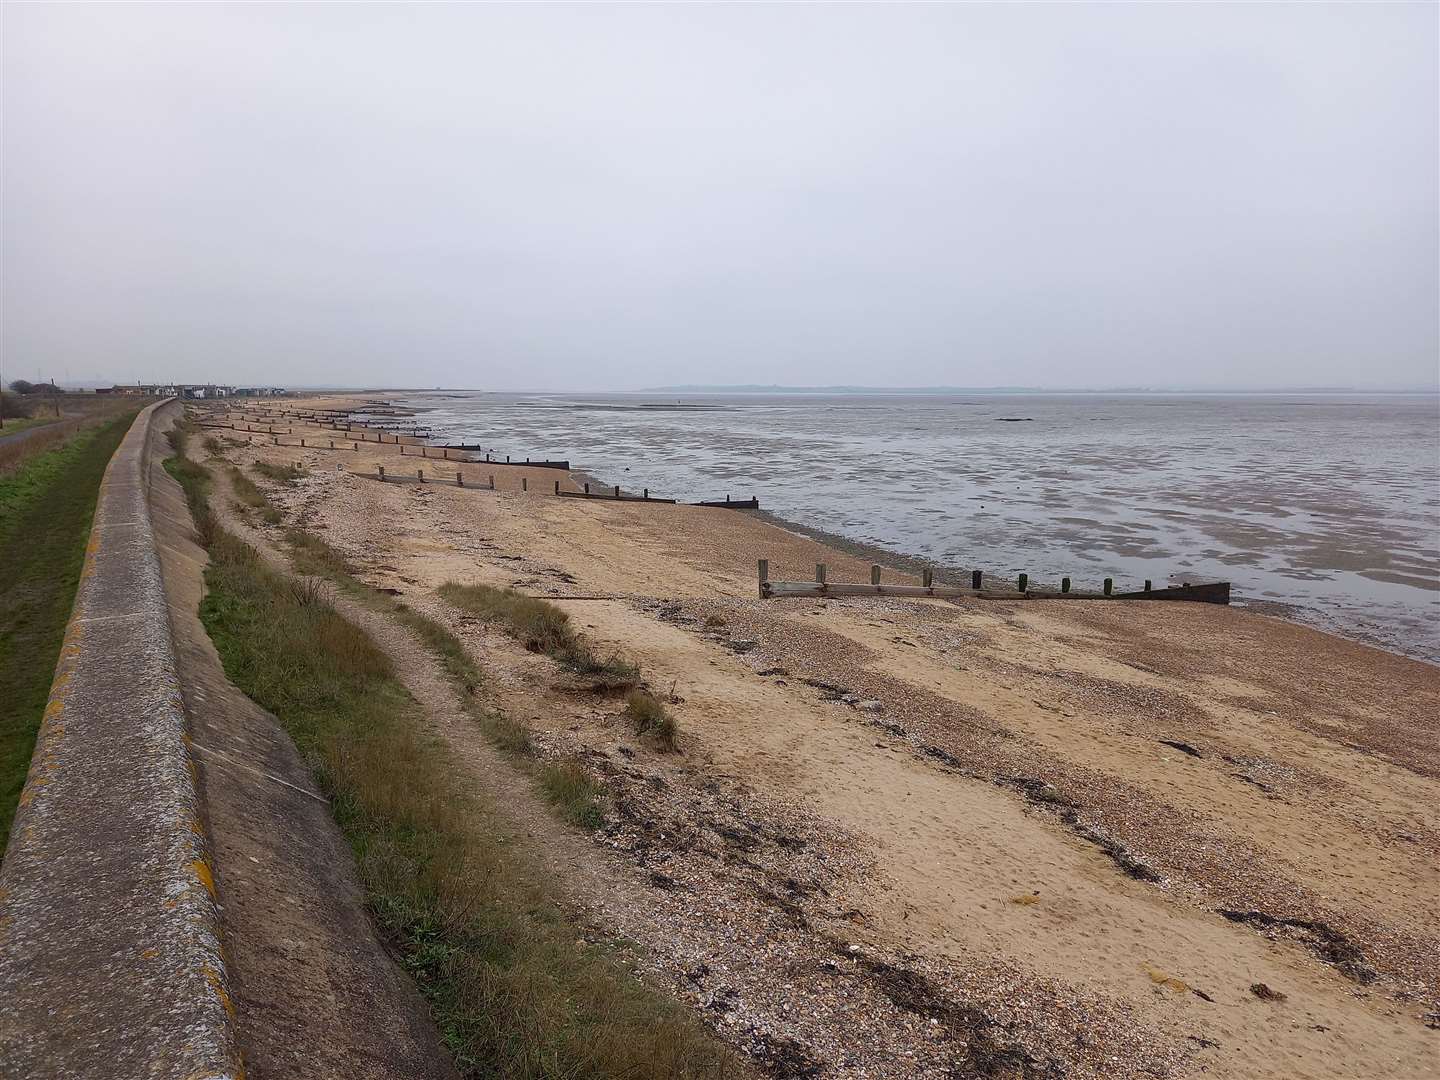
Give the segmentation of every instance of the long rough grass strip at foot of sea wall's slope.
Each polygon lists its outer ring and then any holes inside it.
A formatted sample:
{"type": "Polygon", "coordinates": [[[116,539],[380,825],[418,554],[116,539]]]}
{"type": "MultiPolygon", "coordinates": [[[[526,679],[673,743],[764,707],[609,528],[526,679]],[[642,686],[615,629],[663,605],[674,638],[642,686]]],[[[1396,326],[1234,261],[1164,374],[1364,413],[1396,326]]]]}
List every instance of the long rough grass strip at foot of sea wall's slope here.
{"type": "MultiPolygon", "coordinates": [[[[204,481],[171,471],[203,503],[204,481]]],[[[202,619],[226,674],[281,720],[314,770],[374,919],[465,1076],[736,1070],[685,1009],[582,940],[544,860],[456,773],[390,658],[323,589],[276,573],[220,530],[206,586],[202,619]]]]}

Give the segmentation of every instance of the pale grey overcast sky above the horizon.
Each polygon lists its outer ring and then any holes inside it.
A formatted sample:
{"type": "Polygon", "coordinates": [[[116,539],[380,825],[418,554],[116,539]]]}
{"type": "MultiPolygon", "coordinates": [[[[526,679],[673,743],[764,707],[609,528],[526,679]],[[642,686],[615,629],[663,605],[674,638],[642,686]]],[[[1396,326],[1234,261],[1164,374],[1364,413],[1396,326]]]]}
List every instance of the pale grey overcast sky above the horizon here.
{"type": "Polygon", "coordinates": [[[1437,10],[6,4],[6,377],[1433,386],[1437,10]]]}

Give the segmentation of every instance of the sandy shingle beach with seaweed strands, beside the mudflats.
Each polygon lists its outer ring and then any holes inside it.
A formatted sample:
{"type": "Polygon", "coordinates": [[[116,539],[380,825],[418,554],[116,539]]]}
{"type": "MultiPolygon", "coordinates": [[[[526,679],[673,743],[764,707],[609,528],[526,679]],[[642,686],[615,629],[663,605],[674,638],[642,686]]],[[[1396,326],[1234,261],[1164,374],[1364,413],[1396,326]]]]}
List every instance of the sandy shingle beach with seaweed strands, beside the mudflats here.
{"type": "MultiPolygon", "coordinates": [[[[521,793],[528,842],[772,1074],[1440,1076],[1436,667],[1207,603],[762,600],[759,559],[832,582],[871,560],[750,513],[556,498],[583,482],[560,469],[204,433],[279,511],[230,527],[269,552],[317,533],[454,631],[541,755],[585,762],[603,822],[521,793]],[[380,467],[465,487],[356,475],[380,467]],[[639,665],[678,749],[449,582],[562,608],[639,665]]],[[[886,583],[919,583],[897,566],[886,583]]],[[[435,736],[516,789],[464,717],[435,736]]]]}

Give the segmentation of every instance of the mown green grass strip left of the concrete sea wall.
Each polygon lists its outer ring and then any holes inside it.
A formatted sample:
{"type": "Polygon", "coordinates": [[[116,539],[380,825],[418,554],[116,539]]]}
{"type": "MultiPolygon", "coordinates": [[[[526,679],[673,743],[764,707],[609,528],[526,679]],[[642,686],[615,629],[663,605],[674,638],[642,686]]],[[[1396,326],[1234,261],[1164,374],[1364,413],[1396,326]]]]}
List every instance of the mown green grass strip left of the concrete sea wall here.
{"type": "Polygon", "coordinates": [[[0,477],[0,851],[50,694],[99,482],[135,412],[0,477]]]}

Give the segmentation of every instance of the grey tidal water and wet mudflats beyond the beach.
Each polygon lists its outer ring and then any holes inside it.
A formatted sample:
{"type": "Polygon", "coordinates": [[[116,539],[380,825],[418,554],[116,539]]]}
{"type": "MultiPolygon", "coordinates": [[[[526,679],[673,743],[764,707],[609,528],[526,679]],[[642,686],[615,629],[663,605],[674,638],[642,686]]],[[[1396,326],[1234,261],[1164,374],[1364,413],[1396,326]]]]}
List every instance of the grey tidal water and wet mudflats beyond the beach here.
{"type": "MultiPolygon", "coordinates": [[[[408,396],[449,441],[956,569],[1237,602],[1440,660],[1436,396],[408,396]],[[641,405],[714,406],[651,409],[641,405]],[[1005,422],[1002,418],[1027,418],[1005,422]]],[[[760,553],[757,553],[759,556],[760,553]]]]}

